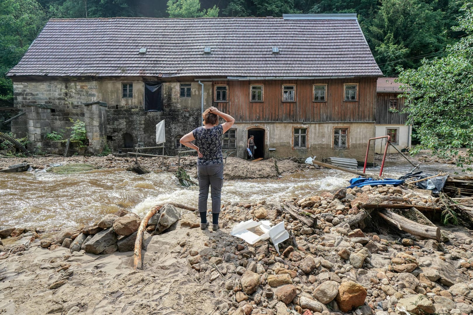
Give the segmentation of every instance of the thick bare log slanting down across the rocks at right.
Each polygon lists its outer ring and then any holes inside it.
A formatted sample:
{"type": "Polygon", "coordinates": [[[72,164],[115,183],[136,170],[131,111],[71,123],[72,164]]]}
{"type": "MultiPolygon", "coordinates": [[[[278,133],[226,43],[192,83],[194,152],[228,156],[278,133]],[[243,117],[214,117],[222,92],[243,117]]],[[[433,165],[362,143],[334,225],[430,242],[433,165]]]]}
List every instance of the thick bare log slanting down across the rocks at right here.
{"type": "Polygon", "coordinates": [[[396,226],[399,230],[403,230],[421,238],[432,238],[440,241],[441,234],[440,228],[438,227],[431,227],[411,221],[407,218],[404,218],[402,215],[385,209],[379,210],[378,214],[381,218],[396,226]]]}

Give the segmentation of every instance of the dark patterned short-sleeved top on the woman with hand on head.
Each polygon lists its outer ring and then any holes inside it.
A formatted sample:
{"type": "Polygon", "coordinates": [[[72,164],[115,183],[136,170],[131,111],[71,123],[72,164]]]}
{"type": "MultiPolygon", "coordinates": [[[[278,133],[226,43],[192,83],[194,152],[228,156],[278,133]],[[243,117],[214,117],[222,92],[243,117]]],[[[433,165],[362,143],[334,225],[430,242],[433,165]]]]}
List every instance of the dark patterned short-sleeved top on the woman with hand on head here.
{"type": "Polygon", "coordinates": [[[197,158],[197,165],[223,164],[222,157],[222,135],[223,126],[206,129],[204,127],[195,128],[192,131],[195,138],[195,145],[203,157],[197,158]]]}

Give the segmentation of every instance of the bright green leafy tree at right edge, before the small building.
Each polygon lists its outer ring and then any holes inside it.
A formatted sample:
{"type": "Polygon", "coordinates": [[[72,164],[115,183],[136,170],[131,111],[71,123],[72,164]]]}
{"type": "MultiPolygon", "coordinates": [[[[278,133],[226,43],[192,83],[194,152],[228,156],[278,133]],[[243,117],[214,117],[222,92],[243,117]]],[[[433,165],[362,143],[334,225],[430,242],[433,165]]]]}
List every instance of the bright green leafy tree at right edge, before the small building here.
{"type": "MultiPolygon", "coordinates": [[[[458,166],[473,162],[473,5],[462,7],[464,17],[455,31],[467,35],[447,46],[446,56],[423,60],[418,69],[402,70],[399,81],[408,92],[405,112],[417,130],[421,149],[456,159],[458,166]],[[459,155],[459,147],[467,155],[459,155]]],[[[471,170],[471,167],[469,167],[471,170]]]]}

